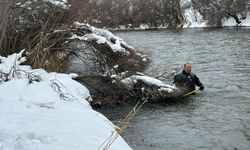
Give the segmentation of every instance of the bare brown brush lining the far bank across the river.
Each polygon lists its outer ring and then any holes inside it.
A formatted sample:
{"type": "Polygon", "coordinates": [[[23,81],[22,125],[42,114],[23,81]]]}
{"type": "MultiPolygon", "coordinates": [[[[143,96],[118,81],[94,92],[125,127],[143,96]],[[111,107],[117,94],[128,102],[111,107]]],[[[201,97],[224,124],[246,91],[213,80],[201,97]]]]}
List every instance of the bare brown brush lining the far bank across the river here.
{"type": "MultiPolygon", "coordinates": [[[[73,17],[97,27],[134,29],[144,24],[150,28],[177,28],[188,23],[188,18],[207,22],[210,27],[221,27],[223,19],[234,18],[235,24],[250,12],[249,0],[73,0],[73,17]],[[107,9],[108,8],[108,9],[107,9]],[[189,10],[194,10],[190,14],[189,10]],[[186,10],[188,14],[185,14],[186,10]],[[82,13],[86,12],[86,13],[82,13]],[[147,16],[147,17],[145,17],[147,16]],[[121,26],[123,25],[123,26],[121,26]]],[[[143,27],[141,27],[143,28],[143,27]]]]}

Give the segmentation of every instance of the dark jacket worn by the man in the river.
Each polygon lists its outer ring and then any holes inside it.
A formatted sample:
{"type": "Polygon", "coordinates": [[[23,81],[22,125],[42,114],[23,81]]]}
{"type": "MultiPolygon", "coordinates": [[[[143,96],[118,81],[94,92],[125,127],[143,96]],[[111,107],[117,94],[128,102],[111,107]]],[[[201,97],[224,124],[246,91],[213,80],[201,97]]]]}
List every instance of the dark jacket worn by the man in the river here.
{"type": "Polygon", "coordinates": [[[176,87],[185,88],[187,91],[195,90],[195,86],[200,87],[200,90],[204,89],[203,84],[194,73],[186,73],[184,70],[174,76],[174,84],[176,87]]]}

